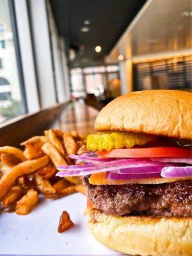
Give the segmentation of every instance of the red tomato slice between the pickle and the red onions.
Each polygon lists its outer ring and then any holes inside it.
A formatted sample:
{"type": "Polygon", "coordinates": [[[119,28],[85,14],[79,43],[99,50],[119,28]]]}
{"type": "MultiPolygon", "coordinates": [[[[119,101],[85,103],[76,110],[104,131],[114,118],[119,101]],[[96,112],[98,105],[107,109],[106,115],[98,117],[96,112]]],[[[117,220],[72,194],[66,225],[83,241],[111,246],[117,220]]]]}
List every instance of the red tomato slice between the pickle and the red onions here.
{"type": "Polygon", "coordinates": [[[186,148],[173,147],[154,147],[154,148],[121,148],[113,149],[110,152],[102,150],[97,151],[97,154],[102,157],[182,157],[190,158],[191,150],[186,148]]]}

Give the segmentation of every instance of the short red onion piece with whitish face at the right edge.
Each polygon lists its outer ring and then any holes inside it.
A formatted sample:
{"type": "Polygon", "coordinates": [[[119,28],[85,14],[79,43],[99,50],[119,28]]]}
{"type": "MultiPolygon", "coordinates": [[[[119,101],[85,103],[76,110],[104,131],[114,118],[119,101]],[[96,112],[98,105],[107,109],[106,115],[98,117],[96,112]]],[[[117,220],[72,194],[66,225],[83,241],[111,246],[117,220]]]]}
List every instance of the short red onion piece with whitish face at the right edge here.
{"type": "Polygon", "coordinates": [[[175,167],[168,166],[161,170],[161,177],[163,178],[180,178],[192,177],[192,166],[175,167]]]}

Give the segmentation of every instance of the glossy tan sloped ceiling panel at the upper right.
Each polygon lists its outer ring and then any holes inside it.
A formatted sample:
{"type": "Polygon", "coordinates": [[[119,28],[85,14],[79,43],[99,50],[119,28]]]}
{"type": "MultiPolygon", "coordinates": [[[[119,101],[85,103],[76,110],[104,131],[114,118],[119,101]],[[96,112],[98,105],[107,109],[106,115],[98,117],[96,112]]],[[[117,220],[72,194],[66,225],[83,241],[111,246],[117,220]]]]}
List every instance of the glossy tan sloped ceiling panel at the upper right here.
{"type": "Polygon", "coordinates": [[[119,54],[140,60],[152,54],[191,51],[191,15],[191,0],[148,1],[107,60],[114,62],[119,54]]]}

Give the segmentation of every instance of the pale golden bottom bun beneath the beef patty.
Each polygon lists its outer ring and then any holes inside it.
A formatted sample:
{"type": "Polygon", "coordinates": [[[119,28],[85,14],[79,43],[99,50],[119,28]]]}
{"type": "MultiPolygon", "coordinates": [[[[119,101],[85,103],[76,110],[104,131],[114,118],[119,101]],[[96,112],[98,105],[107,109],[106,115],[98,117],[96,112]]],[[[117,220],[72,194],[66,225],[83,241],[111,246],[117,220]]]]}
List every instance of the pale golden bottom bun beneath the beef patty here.
{"type": "Polygon", "coordinates": [[[131,255],[191,256],[191,218],[111,216],[86,209],[88,228],[102,244],[131,255]]]}

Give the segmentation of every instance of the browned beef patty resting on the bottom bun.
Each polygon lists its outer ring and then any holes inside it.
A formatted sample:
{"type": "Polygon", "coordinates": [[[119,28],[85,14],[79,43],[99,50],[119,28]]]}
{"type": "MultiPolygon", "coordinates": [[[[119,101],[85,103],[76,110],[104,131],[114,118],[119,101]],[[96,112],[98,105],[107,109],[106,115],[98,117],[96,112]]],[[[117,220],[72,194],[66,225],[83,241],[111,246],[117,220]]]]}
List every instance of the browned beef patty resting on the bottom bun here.
{"type": "Polygon", "coordinates": [[[191,216],[191,180],[97,186],[84,177],[84,183],[95,208],[107,215],[191,216]]]}

